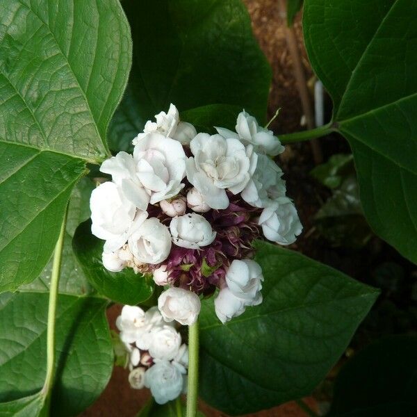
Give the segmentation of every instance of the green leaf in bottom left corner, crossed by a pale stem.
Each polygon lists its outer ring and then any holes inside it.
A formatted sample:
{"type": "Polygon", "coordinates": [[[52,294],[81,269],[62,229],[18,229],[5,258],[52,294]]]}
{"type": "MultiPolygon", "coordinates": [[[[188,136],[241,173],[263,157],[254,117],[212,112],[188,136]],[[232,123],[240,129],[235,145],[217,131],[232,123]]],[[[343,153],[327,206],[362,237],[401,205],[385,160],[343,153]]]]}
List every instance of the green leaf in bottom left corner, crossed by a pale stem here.
{"type": "MultiPolygon", "coordinates": [[[[96,297],[58,296],[54,416],[79,414],[111,376],[113,350],[105,307],[106,300],[96,297]]],[[[43,293],[0,295],[0,402],[20,399],[13,407],[35,407],[35,403],[26,404],[25,397],[40,391],[44,383],[47,314],[48,288],[43,293]]],[[[0,410],[5,407],[1,404],[0,410]]],[[[26,409],[25,413],[35,415],[26,409]]]]}

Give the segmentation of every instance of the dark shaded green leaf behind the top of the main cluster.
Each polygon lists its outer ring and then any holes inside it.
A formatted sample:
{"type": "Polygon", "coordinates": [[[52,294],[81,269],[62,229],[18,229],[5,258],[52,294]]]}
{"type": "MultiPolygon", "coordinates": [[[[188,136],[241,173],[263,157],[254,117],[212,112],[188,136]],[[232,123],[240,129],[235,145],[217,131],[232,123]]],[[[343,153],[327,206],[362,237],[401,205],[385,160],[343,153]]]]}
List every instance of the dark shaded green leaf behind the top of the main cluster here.
{"type": "MultiPolygon", "coordinates": [[[[109,129],[111,149],[129,149],[147,120],[211,104],[263,121],[271,71],[240,0],[124,0],[131,24],[129,88],[109,129]]],[[[221,120],[220,120],[221,121],[221,120]]]]}

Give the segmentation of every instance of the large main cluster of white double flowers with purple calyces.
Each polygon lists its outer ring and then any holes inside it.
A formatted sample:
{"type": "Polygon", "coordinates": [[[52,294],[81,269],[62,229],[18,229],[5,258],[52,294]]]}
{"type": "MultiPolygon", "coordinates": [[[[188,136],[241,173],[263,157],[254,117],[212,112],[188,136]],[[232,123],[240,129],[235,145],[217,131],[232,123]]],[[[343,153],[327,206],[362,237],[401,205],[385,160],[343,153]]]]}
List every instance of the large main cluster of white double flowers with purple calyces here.
{"type": "Polygon", "coordinates": [[[104,266],[170,286],[158,306],[165,320],[183,325],[197,319],[199,295],[216,288],[222,322],[259,304],[263,275],[252,242],[263,233],[289,245],[302,231],[270,158],[284,150],[278,138],[245,111],[236,131],[215,129],[197,133],[171,104],[133,140],[133,154],[104,161],[100,170],[112,181],[90,199],[92,233],[106,240],[104,266]]]}

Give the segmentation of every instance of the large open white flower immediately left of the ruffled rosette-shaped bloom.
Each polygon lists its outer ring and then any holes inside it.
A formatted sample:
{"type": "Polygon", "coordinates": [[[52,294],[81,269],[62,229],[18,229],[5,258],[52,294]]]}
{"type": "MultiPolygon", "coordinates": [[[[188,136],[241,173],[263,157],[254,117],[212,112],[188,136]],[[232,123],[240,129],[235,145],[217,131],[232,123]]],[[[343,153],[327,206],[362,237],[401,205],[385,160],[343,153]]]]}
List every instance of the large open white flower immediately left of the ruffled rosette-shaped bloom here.
{"type": "Polygon", "coordinates": [[[159,133],[149,133],[133,149],[136,174],[151,204],[177,195],[183,188],[186,154],[181,143],[159,133]]]}

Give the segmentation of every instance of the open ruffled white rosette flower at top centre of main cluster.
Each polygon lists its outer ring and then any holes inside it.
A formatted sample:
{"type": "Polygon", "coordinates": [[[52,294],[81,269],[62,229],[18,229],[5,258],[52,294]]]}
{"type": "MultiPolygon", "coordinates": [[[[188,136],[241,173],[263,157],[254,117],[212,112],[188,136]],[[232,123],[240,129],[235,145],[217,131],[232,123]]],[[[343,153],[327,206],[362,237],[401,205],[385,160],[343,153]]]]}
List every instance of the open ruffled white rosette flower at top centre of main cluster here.
{"type": "Polygon", "coordinates": [[[247,154],[238,139],[199,133],[191,140],[190,149],[194,157],[187,160],[188,181],[202,193],[208,206],[227,208],[226,190],[240,193],[250,180],[252,148],[247,154]]]}

